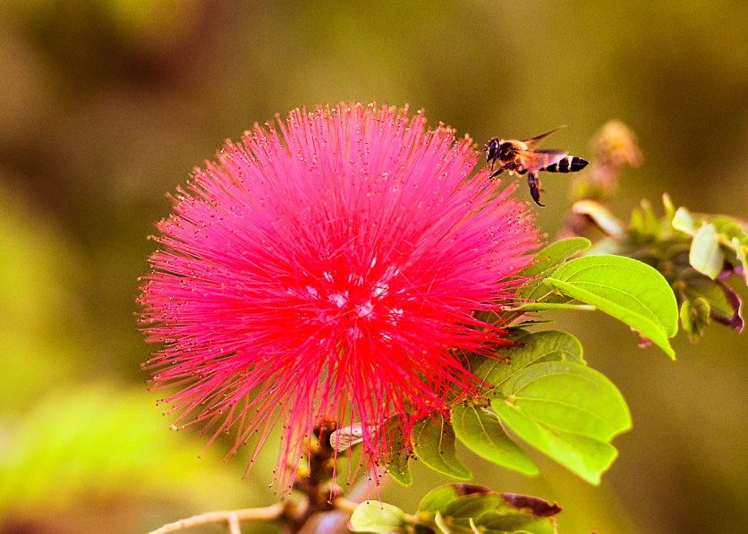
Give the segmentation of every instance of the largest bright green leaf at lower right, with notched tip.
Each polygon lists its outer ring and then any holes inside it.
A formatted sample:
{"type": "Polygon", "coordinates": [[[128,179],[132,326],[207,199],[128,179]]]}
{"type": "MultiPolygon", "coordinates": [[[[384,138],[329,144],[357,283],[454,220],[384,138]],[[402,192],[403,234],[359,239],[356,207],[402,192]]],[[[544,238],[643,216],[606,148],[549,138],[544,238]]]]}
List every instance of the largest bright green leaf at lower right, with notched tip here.
{"type": "Polygon", "coordinates": [[[599,372],[567,361],[533,365],[491,404],[517,436],[593,484],[616,458],[608,441],[631,428],[623,396],[599,372]]]}

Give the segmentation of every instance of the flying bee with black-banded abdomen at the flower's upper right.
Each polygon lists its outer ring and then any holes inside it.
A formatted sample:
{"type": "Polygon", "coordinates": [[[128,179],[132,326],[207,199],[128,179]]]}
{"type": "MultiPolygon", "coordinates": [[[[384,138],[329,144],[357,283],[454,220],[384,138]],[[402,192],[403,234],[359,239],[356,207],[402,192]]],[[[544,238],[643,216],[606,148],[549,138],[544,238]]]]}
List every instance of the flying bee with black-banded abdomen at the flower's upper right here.
{"type": "Polygon", "coordinates": [[[540,181],[538,180],[538,173],[540,171],[548,171],[549,173],[575,173],[581,171],[590,163],[581,157],[569,156],[569,153],[565,150],[531,149],[540,140],[545,139],[548,135],[561,128],[563,126],[522,141],[498,139],[497,137],[491,138],[488,143],[483,145],[483,148],[480,148],[481,152],[486,152],[486,163],[491,165],[492,171],[496,164],[500,165],[498,170],[491,174],[490,177],[495,178],[504,171],[508,171],[509,174],[527,174],[530,196],[535,201],[535,204],[545,206],[544,204],[540,204],[540,181]]]}

